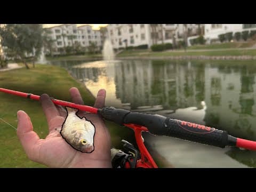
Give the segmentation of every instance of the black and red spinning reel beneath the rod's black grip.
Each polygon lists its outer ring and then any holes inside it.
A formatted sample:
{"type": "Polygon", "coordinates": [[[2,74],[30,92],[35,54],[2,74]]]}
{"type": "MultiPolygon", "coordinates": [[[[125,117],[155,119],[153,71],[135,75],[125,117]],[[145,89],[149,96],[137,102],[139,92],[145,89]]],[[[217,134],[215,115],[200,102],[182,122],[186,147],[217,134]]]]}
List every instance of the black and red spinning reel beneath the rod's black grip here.
{"type": "Polygon", "coordinates": [[[123,150],[111,148],[111,164],[113,168],[136,168],[140,152],[132,143],[122,140],[123,150]]]}

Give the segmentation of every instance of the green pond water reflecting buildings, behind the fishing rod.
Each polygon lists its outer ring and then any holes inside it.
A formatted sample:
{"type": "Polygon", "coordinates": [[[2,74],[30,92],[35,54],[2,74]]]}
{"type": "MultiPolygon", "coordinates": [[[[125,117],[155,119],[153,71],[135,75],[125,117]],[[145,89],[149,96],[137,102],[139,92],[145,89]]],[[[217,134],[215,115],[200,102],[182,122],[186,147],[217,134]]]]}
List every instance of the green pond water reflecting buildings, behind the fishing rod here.
{"type": "MultiPolygon", "coordinates": [[[[256,140],[254,61],[58,61],[106,106],[155,113],[256,140]]],[[[170,137],[145,140],[175,167],[256,167],[256,153],[170,137]]]]}

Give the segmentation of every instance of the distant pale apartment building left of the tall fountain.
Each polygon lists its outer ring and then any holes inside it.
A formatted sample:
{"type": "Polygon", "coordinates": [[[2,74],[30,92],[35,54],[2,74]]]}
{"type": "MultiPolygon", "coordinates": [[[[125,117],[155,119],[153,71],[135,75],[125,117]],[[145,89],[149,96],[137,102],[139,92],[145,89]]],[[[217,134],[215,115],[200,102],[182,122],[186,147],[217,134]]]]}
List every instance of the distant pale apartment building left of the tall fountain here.
{"type": "Polygon", "coordinates": [[[97,50],[101,50],[105,34],[100,30],[93,30],[90,25],[77,27],[76,24],[63,24],[60,26],[47,28],[51,31],[50,37],[55,40],[54,54],[63,52],[64,47],[75,46],[76,44],[88,50],[90,43],[95,43],[97,50]]]}

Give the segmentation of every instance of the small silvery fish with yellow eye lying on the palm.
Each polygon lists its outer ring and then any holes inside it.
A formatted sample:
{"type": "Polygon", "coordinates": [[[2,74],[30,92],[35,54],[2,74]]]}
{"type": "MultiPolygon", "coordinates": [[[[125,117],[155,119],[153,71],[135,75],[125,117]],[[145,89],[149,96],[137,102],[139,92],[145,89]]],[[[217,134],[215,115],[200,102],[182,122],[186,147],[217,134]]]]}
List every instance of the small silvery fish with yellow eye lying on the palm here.
{"type": "Polygon", "coordinates": [[[66,107],[67,117],[62,124],[61,136],[78,151],[92,153],[95,126],[85,117],[76,115],[78,109],[66,107]]]}

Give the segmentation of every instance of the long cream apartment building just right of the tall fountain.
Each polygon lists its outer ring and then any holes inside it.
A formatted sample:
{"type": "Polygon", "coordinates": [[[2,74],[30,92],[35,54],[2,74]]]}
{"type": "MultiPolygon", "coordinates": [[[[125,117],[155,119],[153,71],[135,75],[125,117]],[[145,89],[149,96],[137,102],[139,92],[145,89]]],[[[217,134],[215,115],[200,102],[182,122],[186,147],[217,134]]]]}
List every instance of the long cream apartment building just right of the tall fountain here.
{"type": "MultiPolygon", "coordinates": [[[[202,26],[202,25],[201,25],[202,26]]],[[[127,46],[173,43],[187,36],[198,34],[197,24],[109,24],[107,26],[108,38],[115,49],[127,46]]]]}

